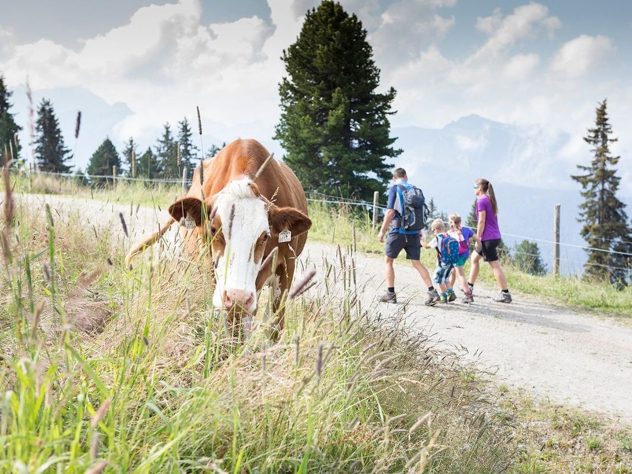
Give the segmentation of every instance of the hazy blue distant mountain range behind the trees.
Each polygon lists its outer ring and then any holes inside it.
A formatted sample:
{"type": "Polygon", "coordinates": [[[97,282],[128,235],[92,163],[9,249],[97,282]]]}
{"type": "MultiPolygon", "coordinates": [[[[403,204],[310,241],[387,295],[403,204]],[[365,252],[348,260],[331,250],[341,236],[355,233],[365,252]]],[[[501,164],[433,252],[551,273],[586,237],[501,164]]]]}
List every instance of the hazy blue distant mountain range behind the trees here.
{"type": "MultiPolygon", "coordinates": [[[[28,143],[28,102],[24,87],[18,87],[11,98],[18,112],[16,120],[23,126],[21,142],[28,143]]],[[[52,88],[33,92],[37,109],[42,97],[52,100],[58,114],[66,145],[75,153],[74,165],[85,169],[90,155],[106,136],[112,138],[121,150],[123,137],[118,137],[117,126],[133,116],[124,103],[107,104],[99,96],[81,87],[52,88]],[[75,143],[76,112],[82,111],[80,138],[75,143]]],[[[205,128],[216,131],[216,138],[204,135],[205,147],[212,143],[229,142],[238,130],[228,129],[221,123],[205,121],[205,128]]],[[[173,124],[175,125],[175,124],[173,124]]],[[[258,138],[277,157],[283,155],[278,143],[264,137],[265,128],[253,125],[250,133],[258,138]]],[[[151,141],[154,145],[156,137],[151,141]]],[[[428,198],[432,197],[439,210],[459,212],[465,219],[474,200],[472,185],[477,178],[487,178],[494,185],[499,202],[499,222],[507,245],[513,245],[527,236],[552,240],[554,204],[561,204],[561,241],[583,245],[579,235],[580,224],[576,221],[581,197],[579,188],[570,179],[575,163],[564,154],[569,135],[551,135],[538,126],[516,126],[492,121],[477,115],[459,118],[443,128],[405,126],[394,128],[392,136],[398,137],[395,146],[403,153],[394,161],[406,168],[411,182],[420,186],[428,198]]],[[[147,144],[141,142],[141,148],[147,144]]],[[[142,150],[141,150],[142,151],[142,150]]],[[[586,150],[586,161],[588,150],[586,150]]],[[[624,197],[632,214],[632,197],[624,197]]],[[[551,264],[552,245],[539,243],[545,262],[551,264]]],[[[581,249],[562,247],[562,270],[581,271],[585,252],[581,249]]]]}

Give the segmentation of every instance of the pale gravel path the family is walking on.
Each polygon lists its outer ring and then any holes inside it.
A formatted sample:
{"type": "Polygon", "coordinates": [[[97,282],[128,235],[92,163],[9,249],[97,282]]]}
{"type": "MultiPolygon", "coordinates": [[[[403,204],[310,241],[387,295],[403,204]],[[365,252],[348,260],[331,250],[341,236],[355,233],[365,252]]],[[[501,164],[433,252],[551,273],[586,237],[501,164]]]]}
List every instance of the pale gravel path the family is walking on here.
{"type": "MultiPolygon", "coordinates": [[[[154,231],[157,223],[168,218],[164,210],[144,207],[130,217],[129,204],[83,198],[26,195],[21,200],[28,205],[48,202],[59,212],[78,209],[92,222],[110,222],[117,230],[118,214],[123,212],[132,241],[154,231]]],[[[175,234],[166,235],[174,238],[175,234]]],[[[301,258],[320,262],[322,257],[335,261],[336,247],[308,241],[301,258]]],[[[375,303],[375,294],[384,290],[381,258],[358,255],[357,264],[358,279],[367,285],[363,296],[367,307],[385,315],[404,309],[375,303]]],[[[423,306],[425,291],[420,292],[420,277],[403,262],[396,262],[396,285],[398,298],[406,300],[410,324],[432,331],[441,344],[467,348],[473,360],[496,370],[499,383],[632,422],[632,328],[517,294],[510,305],[495,303],[490,299],[492,291],[479,284],[471,305],[427,308],[423,306]],[[408,285],[402,288],[403,282],[408,285]]]]}

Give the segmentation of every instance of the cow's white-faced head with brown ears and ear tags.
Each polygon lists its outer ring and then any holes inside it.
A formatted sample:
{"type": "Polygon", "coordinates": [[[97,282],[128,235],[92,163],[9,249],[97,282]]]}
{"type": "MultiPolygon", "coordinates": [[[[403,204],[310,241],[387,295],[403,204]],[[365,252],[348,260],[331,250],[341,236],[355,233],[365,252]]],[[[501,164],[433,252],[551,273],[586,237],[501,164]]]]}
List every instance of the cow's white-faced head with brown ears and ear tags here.
{"type": "MultiPolygon", "coordinates": [[[[194,219],[210,241],[216,277],[213,304],[236,326],[243,313],[252,315],[257,309],[256,281],[265,250],[279,245],[279,233],[289,230],[295,238],[312,226],[300,210],[270,203],[248,178],[231,181],[204,202],[184,198],[172,204],[169,213],[179,222],[194,219]]],[[[268,275],[274,271],[264,270],[268,275]]]]}

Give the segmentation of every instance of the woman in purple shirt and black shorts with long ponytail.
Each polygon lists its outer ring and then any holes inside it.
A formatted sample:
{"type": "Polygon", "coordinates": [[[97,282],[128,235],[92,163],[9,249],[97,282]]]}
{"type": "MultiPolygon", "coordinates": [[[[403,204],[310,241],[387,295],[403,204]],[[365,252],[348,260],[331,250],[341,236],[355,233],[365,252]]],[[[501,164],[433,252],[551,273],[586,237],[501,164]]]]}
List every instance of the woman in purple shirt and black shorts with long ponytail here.
{"type": "MultiPolygon", "coordinates": [[[[511,303],[511,295],[507,288],[507,279],[505,273],[502,271],[501,262],[498,260],[498,252],[496,250],[498,244],[501,242],[501,231],[498,228],[498,219],[496,217],[498,214],[498,206],[496,204],[492,183],[487,181],[487,179],[477,179],[474,184],[474,194],[478,198],[476,204],[476,219],[478,222],[476,233],[481,243],[477,243],[476,250],[472,255],[470,280],[468,281],[468,285],[470,286],[470,298],[474,283],[478,277],[480,259],[482,258],[483,261],[488,262],[490,267],[492,267],[498,286],[501,287],[500,297],[494,298],[494,300],[500,303],[511,303]]],[[[468,295],[466,295],[466,298],[467,296],[468,295]]]]}

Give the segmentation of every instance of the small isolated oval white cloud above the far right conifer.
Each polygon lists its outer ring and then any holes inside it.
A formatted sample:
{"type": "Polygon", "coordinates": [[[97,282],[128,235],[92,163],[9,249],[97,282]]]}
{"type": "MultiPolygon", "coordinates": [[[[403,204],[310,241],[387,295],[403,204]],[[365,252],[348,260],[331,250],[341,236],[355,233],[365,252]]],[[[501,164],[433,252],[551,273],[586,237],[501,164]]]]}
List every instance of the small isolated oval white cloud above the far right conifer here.
{"type": "Polygon", "coordinates": [[[557,51],[551,69],[568,76],[581,76],[614,50],[608,37],[580,35],[557,51]]]}

